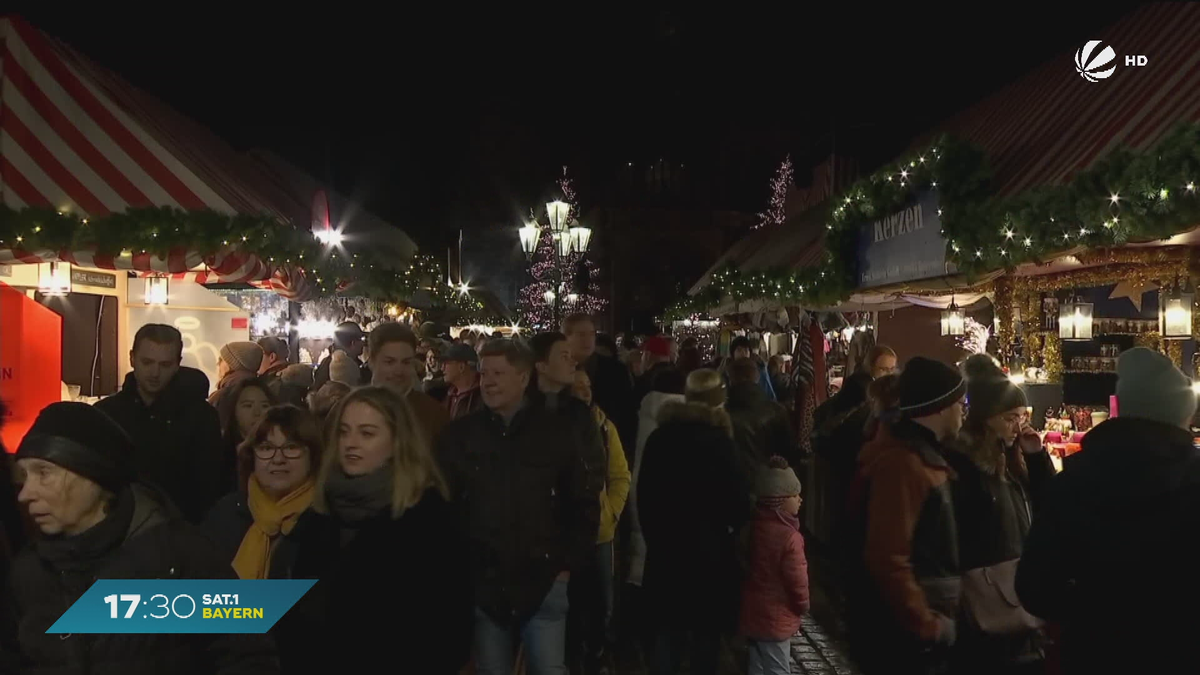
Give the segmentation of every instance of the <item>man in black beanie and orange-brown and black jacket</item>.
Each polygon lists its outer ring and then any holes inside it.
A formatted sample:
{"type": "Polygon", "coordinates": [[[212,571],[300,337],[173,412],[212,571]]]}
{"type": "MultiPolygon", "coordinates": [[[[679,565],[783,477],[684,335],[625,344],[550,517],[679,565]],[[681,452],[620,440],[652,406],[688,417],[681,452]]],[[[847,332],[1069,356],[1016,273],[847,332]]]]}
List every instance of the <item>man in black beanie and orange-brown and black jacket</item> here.
{"type": "Polygon", "coordinates": [[[961,581],[943,443],[962,426],[966,381],[916,357],[899,392],[899,420],[858,459],[851,518],[862,555],[847,590],[850,634],[866,673],[944,673],[961,581]]]}

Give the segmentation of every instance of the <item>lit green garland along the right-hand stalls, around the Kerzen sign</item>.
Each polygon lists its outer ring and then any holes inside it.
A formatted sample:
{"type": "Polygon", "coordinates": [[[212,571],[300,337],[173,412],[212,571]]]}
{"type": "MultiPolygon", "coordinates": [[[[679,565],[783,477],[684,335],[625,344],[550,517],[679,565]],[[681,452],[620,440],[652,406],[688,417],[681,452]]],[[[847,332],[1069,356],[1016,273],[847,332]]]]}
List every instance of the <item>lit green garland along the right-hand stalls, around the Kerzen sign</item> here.
{"type": "Polygon", "coordinates": [[[854,288],[859,228],[899,210],[923,190],[938,192],[947,259],[968,276],[1044,262],[1078,245],[1103,249],[1186,232],[1200,225],[1200,124],[1181,125],[1142,154],[1115,150],[1067,185],[1001,199],[989,196],[991,177],[982,150],[943,137],[827,203],[827,253],[818,267],[743,274],[731,265],[666,317],[685,317],[726,300],[835,304],[854,288]]]}

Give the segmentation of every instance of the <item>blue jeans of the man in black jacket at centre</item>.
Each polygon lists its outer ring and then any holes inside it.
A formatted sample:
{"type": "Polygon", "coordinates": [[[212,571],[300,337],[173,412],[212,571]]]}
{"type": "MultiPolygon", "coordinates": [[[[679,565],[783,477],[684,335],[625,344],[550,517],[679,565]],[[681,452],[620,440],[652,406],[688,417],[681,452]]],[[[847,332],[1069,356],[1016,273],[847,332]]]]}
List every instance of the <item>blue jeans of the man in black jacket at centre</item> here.
{"type": "MultiPolygon", "coordinates": [[[[556,580],[529,621],[517,627],[527,675],[566,675],[566,581],[556,580]]],[[[476,675],[512,675],[514,631],[475,608],[476,675]]]]}

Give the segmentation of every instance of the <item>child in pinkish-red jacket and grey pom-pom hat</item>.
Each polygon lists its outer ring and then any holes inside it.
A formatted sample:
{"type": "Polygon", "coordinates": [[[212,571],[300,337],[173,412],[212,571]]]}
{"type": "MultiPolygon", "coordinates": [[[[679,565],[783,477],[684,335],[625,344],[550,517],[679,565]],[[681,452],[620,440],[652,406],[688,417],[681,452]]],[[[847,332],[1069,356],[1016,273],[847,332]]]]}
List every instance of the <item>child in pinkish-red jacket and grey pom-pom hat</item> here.
{"type": "Polygon", "coordinates": [[[797,518],[800,482],[787,460],[770,458],[755,480],[755,495],[740,632],[749,645],[750,675],[787,675],[791,638],[809,611],[809,562],[797,518]]]}

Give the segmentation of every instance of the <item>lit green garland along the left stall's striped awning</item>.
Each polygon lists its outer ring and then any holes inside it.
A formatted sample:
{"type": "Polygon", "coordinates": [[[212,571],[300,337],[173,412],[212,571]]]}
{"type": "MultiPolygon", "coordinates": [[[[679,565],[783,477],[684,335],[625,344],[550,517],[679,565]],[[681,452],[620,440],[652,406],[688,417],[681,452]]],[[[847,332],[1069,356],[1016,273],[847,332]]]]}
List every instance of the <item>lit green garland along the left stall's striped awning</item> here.
{"type": "Polygon", "coordinates": [[[408,301],[424,289],[434,305],[464,315],[484,311],[481,303],[442,281],[442,265],[431,256],[416,255],[407,268],[396,269],[368,253],[326,253],[325,245],[311,232],[268,216],[151,207],[82,219],[53,209],[13,210],[0,205],[0,249],[13,247],[96,251],[106,256],[122,251],[166,256],[172,249],[187,249],[205,257],[235,247],[268,264],[302,269],[319,297],[336,295],[340,288],[346,288],[382,301],[408,301]]]}

